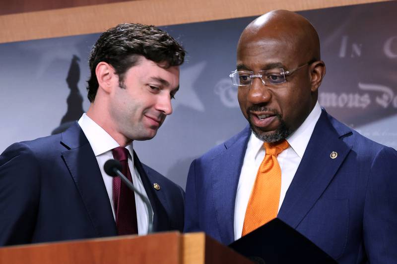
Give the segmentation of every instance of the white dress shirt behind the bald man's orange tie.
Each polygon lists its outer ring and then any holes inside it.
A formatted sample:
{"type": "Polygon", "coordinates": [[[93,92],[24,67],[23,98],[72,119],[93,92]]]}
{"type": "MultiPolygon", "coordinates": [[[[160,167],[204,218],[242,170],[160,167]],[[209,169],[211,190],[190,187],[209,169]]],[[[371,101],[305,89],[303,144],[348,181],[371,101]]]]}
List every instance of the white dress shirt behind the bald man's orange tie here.
{"type": "MultiPolygon", "coordinates": [[[[302,125],[292,133],[286,140],[288,149],[277,156],[281,168],[281,192],[278,211],[284,201],[285,194],[294,178],[299,163],[305,153],[307,144],[312,136],[314,127],[321,115],[319,103],[310,112],[302,125]]],[[[252,132],[245,152],[243,166],[241,168],[239,183],[237,186],[236,203],[234,208],[234,239],[241,237],[245,213],[254,188],[259,166],[265,158],[264,142],[258,139],[252,132]]]]}

